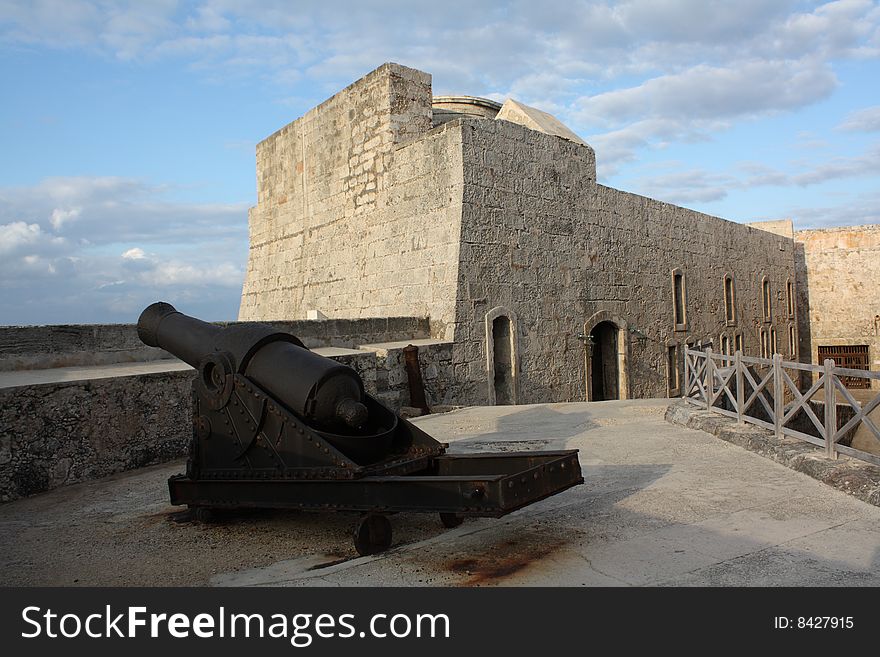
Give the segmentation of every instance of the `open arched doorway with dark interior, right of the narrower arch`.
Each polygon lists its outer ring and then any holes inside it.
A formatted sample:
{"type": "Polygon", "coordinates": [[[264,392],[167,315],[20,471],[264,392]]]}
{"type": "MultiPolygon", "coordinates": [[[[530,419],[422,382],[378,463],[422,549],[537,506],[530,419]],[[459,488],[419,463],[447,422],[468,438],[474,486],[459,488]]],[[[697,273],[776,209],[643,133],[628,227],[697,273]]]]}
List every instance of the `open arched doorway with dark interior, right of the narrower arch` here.
{"type": "Polygon", "coordinates": [[[608,311],[584,323],[587,401],[629,399],[627,323],[608,311]]]}

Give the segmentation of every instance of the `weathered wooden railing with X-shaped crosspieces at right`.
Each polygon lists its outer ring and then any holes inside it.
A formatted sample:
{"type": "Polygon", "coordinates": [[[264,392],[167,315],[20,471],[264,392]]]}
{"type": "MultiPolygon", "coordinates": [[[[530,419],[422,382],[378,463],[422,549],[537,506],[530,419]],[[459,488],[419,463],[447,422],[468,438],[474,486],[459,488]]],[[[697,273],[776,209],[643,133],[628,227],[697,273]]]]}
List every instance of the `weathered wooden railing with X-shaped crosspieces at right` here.
{"type": "Polygon", "coordinates": [[[770,429],[777,436],[806,440],[823,447],[830,458],[837,458],[840,453],[880,465],[880,456],[840,444],[841,439],[862,424],[880,445],[878,422],[869,417],[880,407],[880,392],[875,391],[872,398],[860,404],[840,379],[845,376],[880,380],[880,372],[836,367],[833,360],[811,365],[784,361],[779,354],[772,359],[752,358],[740,351],[729,356],[711,349],[686,347],[684,374],[682,396],[692,404],[770,429]],[[819,375],[806,392],[801,392],[796,383],[800,372],[810,372],[811,377],[819,375]],[[824,395],[821,419],[810,404],[820,390],[824,395]],[[838,426],[837,404],[842,402],[849,404],[854,415],[838,426]],[[798,417],[801,411],[803,415],[798,417]],[[800,428],[789,426],[796,417],[800,428]]]}

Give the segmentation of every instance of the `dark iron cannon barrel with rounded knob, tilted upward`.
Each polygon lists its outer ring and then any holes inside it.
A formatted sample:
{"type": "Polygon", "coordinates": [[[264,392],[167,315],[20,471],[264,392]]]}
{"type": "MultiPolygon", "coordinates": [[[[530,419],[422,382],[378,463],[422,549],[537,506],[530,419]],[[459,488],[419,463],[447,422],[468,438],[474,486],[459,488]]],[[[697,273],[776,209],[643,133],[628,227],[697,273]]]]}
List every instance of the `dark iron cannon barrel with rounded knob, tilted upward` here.
{"type": "Polygon", "coordinates": [[[369,419],[357,372],[268,324],[220,328],[158,302],[141,313],[137,326],[142,342],[197,368],[208,392],[241,374],[317,427],[358,430],[369,419]]]}

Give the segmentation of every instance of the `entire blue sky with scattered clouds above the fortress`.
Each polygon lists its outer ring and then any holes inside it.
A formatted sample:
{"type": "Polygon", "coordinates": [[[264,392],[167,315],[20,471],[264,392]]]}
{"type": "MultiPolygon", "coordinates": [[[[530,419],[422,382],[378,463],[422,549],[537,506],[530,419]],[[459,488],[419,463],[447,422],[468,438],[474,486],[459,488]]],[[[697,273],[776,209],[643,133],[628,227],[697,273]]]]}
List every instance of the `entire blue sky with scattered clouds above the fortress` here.
{"type": "Polygon", "coordinates": [[[0,324],[234,319],[255,144],[386,61],[555,114],[613,187],[880,223],[877,2],[0,0],[0,324]]]}

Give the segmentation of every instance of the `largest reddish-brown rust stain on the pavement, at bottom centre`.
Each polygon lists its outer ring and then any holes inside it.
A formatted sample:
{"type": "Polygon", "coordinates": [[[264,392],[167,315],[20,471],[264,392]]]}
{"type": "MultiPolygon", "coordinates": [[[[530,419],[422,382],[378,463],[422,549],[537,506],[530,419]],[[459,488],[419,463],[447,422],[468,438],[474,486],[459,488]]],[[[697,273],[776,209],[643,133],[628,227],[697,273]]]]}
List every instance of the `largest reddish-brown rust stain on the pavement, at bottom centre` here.
{"type": "Polygon", "coordinates": [[[530,537],[532,543],[510,540],[499,543],[493,554],[456,559],[445,564],[446,570],[464,575],[462,586],[492,584],[529,568],[561,548],[565,541],[552,537],[530,537]]]}

